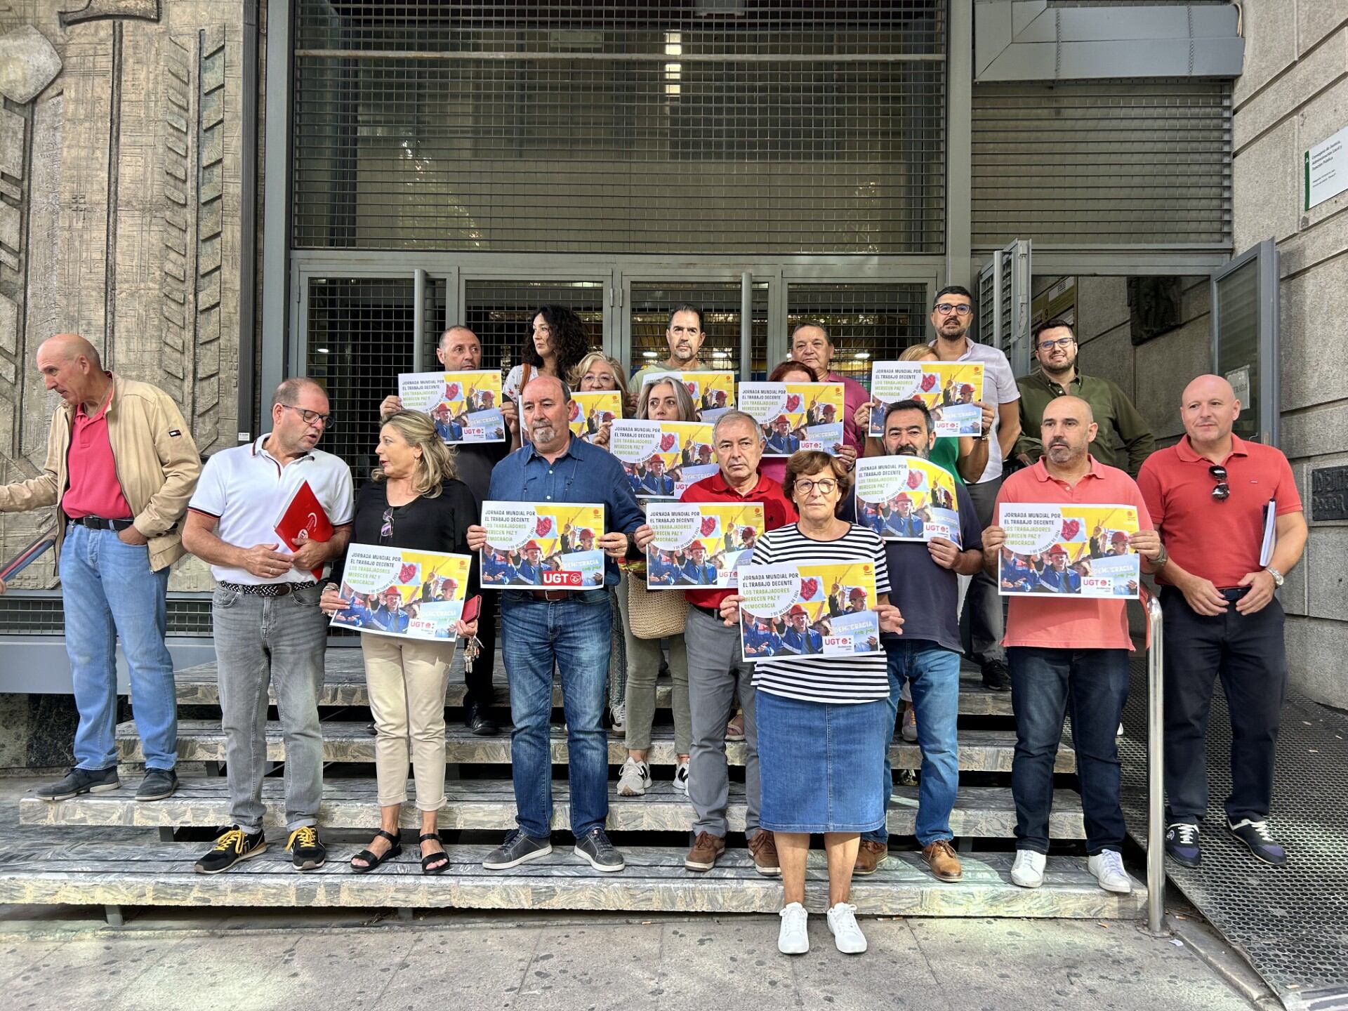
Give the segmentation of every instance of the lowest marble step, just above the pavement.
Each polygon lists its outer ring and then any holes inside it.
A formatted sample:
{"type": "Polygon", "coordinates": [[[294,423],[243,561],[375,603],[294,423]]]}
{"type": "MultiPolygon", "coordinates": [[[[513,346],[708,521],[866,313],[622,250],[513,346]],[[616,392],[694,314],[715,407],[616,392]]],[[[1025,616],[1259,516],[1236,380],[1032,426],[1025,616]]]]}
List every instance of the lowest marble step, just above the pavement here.
{"type": "MultiPolygon", "coordinates": [[[[460,907],[528,910],[609,910],[631,913],[775,913],[779,879],[754,872],[744,849],[725,853],[716,868],[692,874],[683,848],[624,847],[627,868],[600,874],[558,845],[545,859],[512,871],[487,871],[489,845],[449,847],[449,869],[421,872],[415,845],[373,874],[352,874],[346,859],[357,849],[334,847],[333,859],[299,874],[274,836],[264,853],[218,875],[194,874],[204,844],[77,842],[23,845],[0,851],[0,903],[111,906],[350,906],[460,907]]],[[[1011,853],[961,855],[964,880],[931,878],[917,853],[895,852],[874,875],[852,884],[863,915],[886,917],[1058,917],[1138,918],[1146,892],[1134,882],[1130,895],[1103,891],[1084,857],[1050,857],[1043,887],[1011,884],[1011,853]]],[[[806,905],[828,905],[824,853],[813,851],[806,869],[806,905]]],[[[776,936],[776,918],[760,927],[776,936]]],[[[822,923],[816,929],[822,930],[822,923]]]]}

